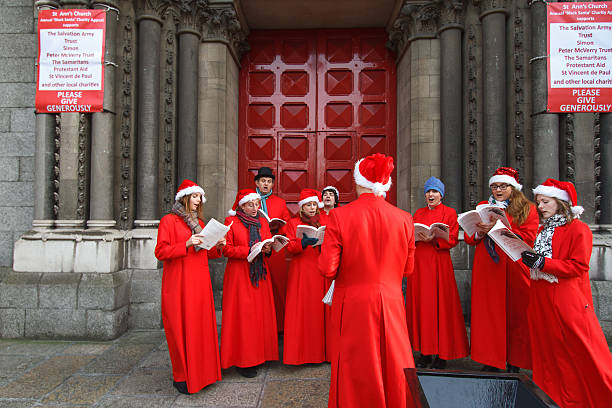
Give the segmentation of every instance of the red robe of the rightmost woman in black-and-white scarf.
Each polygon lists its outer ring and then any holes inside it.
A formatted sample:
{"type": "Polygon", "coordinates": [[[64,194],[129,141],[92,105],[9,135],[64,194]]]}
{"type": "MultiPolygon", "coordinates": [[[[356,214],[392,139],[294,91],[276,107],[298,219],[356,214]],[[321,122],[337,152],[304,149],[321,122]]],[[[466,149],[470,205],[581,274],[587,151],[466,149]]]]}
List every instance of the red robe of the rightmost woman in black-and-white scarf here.
{"type": "Polygon", "coordinates": [[[612,407],[612,355],[593,310],[593,235],[580,220],[555,228],[542,272],[531,282],[533,381],[563,408],[612,407]]]}

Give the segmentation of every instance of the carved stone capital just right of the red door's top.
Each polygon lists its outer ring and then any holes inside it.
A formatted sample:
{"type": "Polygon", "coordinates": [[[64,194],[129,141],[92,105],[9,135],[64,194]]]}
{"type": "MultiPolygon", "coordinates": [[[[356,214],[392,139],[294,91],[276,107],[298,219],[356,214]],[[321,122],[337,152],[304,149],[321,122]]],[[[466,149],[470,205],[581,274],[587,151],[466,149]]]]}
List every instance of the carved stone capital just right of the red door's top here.
{"type": "Polygon", "coordinates": [[[440,1],[406,2],[389,32],[387,47],[401,56],[411,41],[435,38],[440,18],[440,1]]]}

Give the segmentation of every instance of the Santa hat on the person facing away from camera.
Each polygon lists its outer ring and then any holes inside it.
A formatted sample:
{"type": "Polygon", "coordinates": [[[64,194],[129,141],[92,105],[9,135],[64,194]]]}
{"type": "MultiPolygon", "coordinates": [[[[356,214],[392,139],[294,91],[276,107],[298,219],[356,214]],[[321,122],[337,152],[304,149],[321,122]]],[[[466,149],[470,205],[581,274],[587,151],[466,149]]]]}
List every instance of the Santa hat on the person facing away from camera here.
{"type": "Polygon", "coordinates": [[[374,195],[386,196],[391,188],[393,158],[381,153],[364,157],[355,163],[355,183],[372,190],[374,195]]]}

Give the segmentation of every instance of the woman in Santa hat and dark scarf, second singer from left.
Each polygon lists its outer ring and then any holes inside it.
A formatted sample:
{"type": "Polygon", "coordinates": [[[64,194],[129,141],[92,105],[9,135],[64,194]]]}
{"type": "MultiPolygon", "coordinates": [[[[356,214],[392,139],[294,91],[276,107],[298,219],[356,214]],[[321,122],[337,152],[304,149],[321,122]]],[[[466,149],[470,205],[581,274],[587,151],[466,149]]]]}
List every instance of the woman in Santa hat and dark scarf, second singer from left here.
{"type": "Polygon", "coordinates": [[[223,277],[221,367],[236,366],[247,378],[257,376],[258,365],[278,360],[276,312],[267,265],[271,245],[264,245],[252,262],[247,261],[253,245],[271,237],[267,221],[258,215],[259,205],[255,190],[240,190],[225,219],[225,225],[231,224],[231,228],[223,248],[227,265],[223,277]]]}

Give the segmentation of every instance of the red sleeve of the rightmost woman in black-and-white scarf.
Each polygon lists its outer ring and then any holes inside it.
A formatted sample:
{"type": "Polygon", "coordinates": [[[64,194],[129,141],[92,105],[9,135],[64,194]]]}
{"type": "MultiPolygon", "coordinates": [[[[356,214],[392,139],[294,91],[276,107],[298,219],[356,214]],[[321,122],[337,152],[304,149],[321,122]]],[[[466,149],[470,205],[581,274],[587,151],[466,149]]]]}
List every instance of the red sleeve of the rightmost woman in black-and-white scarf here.
{"type": "MultiPolygon", "coordinates": [[[[580,221],[572,221],[572,223],[577,222],[580,221]]],[[[582,225],[577,225],[569,231],[566,230],[568,232],[566,234],[559,234],[560,236],[558,238],[557,231],[555,231],[553,241],[555,241],[555,238],[568,240],[569,244],[565,246],[569,249],[569,253],[559,254],[565,259],[546,258],[544,268],[542,268],[543,272],[555,275],[559,278],[575,278],[589,271],[589,261],[593,249],[593,234],[586,224],[581,224],[582,225]]],[[[555,255],[553,249],[553,257],[559,255],[555,255]]]]}

